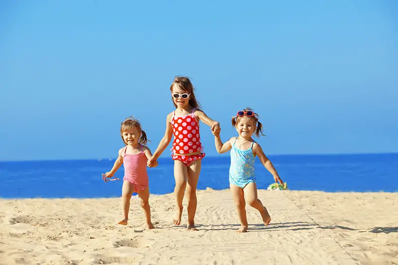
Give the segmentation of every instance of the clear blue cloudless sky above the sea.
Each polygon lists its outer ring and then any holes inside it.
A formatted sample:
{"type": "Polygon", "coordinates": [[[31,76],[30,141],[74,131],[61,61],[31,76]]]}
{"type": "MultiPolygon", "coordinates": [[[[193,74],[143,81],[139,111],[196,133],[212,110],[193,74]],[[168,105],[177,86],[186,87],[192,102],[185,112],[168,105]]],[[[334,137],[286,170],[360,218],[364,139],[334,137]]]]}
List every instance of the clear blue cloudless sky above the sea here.
{"type": "Polygon", "coordinates": [[[130,115],[154,152],[176,75],[224,141],[249,106],[269,155],[398,152],[397,14],[397,0],[0,1],[0,161],[115,158],[130,115]]]}

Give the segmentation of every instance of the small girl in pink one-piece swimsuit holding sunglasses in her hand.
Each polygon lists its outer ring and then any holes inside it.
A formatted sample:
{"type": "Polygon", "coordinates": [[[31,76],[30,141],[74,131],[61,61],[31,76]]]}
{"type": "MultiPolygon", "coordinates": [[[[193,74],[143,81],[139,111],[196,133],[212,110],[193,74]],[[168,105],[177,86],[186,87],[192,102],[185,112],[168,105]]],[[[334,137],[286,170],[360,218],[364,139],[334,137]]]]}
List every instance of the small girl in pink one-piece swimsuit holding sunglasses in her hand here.
{"type": "MultiPolygon", "coordinates": [[[[155,228],[151,222],[151,208],[149,206],[149,186],[147,162],[152,157],[151,151],[146,147],[146,133],[141,129],[141,124],[134,117],[128,117],[120,126],[121,139],[125,147],[119,150],[119,155],[113,168],[105,173],[105,177],[112,177],[113,174],[124,165],[124,177],[122,187],[122,213],[123,219],[120,225],[127,225],[130,199],[133,192],[138,193],[139,203],[145,214],[146,228],[155,228]]],[[[153,167],[157,163],[152,164],[153,167]]]]}

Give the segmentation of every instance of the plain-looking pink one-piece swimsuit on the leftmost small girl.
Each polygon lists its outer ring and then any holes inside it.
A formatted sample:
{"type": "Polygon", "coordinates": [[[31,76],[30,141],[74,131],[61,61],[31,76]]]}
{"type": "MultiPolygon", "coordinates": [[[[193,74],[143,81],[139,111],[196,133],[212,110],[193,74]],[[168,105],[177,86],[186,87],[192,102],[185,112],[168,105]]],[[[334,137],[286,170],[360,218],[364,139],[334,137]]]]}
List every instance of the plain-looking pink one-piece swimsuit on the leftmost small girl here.
{"type": "Polygon", "coordinates": [[[123,154],[124,180],[134,185],[134,192],[144,190],[148,187],[148,173],[146,170],[148,159],[144,152],[138,154],[126,154],[127,146],[123,154]]]}

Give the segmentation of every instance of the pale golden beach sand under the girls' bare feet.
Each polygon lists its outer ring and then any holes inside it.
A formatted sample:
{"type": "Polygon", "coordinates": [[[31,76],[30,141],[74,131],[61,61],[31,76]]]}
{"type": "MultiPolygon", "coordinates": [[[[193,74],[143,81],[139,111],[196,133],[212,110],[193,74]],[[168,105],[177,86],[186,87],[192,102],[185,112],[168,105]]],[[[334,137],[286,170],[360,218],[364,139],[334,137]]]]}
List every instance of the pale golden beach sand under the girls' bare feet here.
{"type": "Polygon", "coordinates": [[[0,264],[398,264],[398,193],[259,190],[259,198],[271,224],[246,206],[242,234],[229,190],[198,190],[199,231],[190,232],[171,223],[173,194],[151,195],[149,231],[136,198],[127,226],[116,224],[120,198],[0,199],[0,264]]]}

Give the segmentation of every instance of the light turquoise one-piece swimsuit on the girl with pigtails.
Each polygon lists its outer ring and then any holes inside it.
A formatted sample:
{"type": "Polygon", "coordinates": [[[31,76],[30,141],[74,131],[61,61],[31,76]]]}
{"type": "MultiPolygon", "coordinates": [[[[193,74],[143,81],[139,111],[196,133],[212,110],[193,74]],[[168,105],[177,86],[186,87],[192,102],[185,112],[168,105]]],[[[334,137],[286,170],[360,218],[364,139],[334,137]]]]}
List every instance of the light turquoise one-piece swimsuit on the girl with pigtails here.
{"type": "Polygon", "coordinates": [[[239,150],[235,142],[231,147],[231,166],[229,168],[229,183],[244,188],[247,184],[256,183],[256,175],[254,174],[254,162],[256,157],[253,154],[253,144],[248,150],[239,150]]]}

